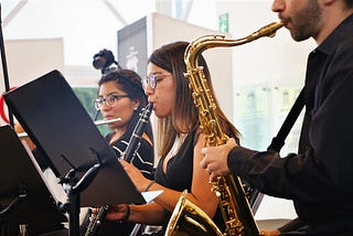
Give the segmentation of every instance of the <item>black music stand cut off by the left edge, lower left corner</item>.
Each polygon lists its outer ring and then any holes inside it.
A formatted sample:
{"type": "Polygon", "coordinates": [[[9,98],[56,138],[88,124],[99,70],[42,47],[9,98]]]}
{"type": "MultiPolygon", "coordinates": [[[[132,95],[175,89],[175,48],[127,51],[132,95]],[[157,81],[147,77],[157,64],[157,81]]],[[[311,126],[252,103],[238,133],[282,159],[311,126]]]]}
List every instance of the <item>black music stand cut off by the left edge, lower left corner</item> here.
{"type": "Polygon", "coordinates": [[[35,228],[45,226],[45,222],[52,225],[67,222],[57,210],[33,155],[10,126],[0,127],[0,222],[17,228],[20,225],[35,228]]]}

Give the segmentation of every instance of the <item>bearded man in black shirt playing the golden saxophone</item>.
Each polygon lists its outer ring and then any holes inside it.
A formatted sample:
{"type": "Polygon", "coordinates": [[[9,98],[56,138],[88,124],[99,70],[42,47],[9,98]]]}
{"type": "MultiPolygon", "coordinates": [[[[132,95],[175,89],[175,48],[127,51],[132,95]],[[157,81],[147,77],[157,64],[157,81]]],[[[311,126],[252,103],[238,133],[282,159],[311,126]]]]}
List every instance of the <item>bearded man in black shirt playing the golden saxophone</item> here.
{"type": "MultiPolygon", "coordinates": [[[[353,1],[275,0],[272,11],[295,41],[313,37],[298,153],[280,157],[229,139],[202,149],[210,180],[235,174],[295,203],[300,224],[272,235],[353,235],[353,1]]],[[[266,235],[268,232],[264,232],[266,235]]]]}

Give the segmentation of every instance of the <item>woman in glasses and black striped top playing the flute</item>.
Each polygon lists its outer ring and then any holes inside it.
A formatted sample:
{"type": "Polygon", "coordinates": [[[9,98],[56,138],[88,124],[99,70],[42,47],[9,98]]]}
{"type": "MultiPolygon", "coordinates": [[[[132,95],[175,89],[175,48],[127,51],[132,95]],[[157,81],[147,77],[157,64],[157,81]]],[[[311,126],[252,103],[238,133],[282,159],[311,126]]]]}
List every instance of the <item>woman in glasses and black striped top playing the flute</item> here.
{"type": "MultiPolygon", "coordinates": [[[[141,77],[133,71],[119,69],[104,75],[98,85],[98,98],[94,100],[96,109],[100,110],[104,119],[121,119],[108,125],[111,132],[106,136],[110,147],[118,157],[121,157],[140,119],[141,109],[147,106],[141,77]]],[[[152,130],[148,125],[147,131],[140,139],[140,146],[130,161],[150,180],[153,179],[154,163],[152,142],[152,130]]],[[[98,235],[130,235],[133,226],[131,223],[105,221],[98,235]]]]}

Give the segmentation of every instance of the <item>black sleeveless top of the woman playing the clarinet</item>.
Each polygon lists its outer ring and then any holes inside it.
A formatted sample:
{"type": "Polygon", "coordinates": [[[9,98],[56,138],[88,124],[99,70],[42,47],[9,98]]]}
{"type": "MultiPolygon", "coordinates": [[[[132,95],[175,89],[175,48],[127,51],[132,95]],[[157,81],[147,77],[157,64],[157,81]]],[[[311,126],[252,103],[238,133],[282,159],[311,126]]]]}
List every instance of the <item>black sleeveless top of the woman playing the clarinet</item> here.
{"type": "MultiPolygon", "coordinates": [[[[154,179],[156,182],[171,190],[183,192],[188,190],[191,192],[192,174],[193,174],[193,161],[194,161],[194,146],[197,141],[197,132],[194,131],[186,136],[184,142],[180,147],[178,153],[168,161],[167,173],[163,172],[163,161],[165,157],[162,157],[157,165],[154,179]]],[[[211,187],[211,186],[210,186],[211,187]]],[[[165,211],[165,226],[171,216],[171,212],[165,211]]],[[[218,226],[221,232],[224,232],[225,226],[222,219],[220,207],[213,222],[218,226]]]]}

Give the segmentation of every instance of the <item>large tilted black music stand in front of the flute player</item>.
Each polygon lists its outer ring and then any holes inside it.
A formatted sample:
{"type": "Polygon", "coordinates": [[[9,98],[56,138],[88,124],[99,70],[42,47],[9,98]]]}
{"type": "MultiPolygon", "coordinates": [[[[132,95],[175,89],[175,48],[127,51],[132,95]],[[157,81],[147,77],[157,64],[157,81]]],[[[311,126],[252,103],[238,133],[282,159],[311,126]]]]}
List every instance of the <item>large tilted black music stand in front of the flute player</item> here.
{"type": "Polygon", "coordinates": [[[71,235],[79,234],[79,206],[146,203],[58,71],[7,93],[4,99],[62,179],[71,235]]]}

